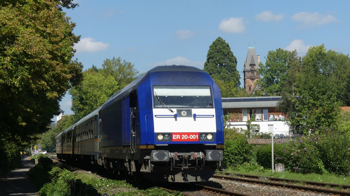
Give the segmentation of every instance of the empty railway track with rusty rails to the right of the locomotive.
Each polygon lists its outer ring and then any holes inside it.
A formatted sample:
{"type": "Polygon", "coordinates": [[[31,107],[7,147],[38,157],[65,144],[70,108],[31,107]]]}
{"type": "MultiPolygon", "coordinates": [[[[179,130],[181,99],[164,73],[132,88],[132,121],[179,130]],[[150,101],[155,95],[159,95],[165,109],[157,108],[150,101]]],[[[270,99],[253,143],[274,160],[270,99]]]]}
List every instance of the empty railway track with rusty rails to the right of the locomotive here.
{"type": "MultiPolygon", "coordinates": [[[[232,173],[229,173],[232,175],[232,173]]],[[[230,177],[230,176],[223,176],[223,175],[213,175],[212,178],[218,178],[218,179],[227,179],[227,180],[234,180],[234,181],[240,181],[240,182],[248,182],[248,183],[255,183],[255,184],[264,184],[269,186],[275,186],[275,187],[283,187],[283,188],[291,188],[291,189],[297,189],[297,190],[304,190],[304,191],[313,191],[317,193],[325,193],[325,194],[334,194],[334,195],[344,195],[348,196],[350,195],[349,191],[341,191],[341,190],[334,190],[334,189],[325,189],[325,188],[318,188],[318,187],[312,187],[312,186],[299,186],[295,184],[289,184],[289,183],[281,183],[283,181],[289,181],[289,182],[296,182],[297,180],[288,180],[288,179],[278,179],[275,178],[278,181],[281,182],[273,182],[273,181],[266,181],[265,177],[262,176],[253,176],[253,175],[241,175],[241,177],[230,177]],[[254,179],[251,179],[254,178],[254,179]],[[255,180],[264,178],[264,180],[255,180]]],[[[271,178],[269,180],[272,180],[271,178]]],[[[307,182],[307,181],[297,181],[297,182],[307,182]]],[[[312,182],[313,185],[318,184],[317,182],[312,182]]],[[[323,186],[327,183],[321,183],[323,186]]],[[[311,185],[311,184],[310,184],[311,185]]],[[[328,185],[328,184],[327,184],[328,185]]],[[[336,184],[334,184],[336,185],[336,184]]],[[[316,185],[319,186],[319,185],[316,185]]],[[[335,186],[336,187],[336,186],[335,186]]]]}

